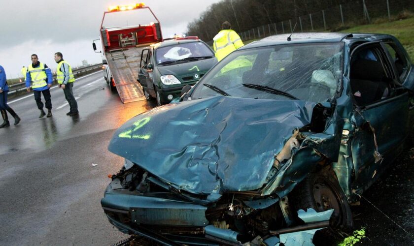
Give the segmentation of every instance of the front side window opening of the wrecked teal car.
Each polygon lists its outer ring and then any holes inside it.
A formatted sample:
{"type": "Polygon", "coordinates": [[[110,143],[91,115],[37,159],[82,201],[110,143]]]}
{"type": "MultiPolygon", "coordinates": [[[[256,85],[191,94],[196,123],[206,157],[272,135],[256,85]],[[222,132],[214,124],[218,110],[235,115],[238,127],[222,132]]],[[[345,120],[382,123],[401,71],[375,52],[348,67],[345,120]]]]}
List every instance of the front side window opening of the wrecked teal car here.
{"type": "Polygon", "coordinates": [[[385,70],[379,47],[359,50],[350,63],[350,85],[354,103],[365,106],[390,95],[392,79],[385,70]]]}

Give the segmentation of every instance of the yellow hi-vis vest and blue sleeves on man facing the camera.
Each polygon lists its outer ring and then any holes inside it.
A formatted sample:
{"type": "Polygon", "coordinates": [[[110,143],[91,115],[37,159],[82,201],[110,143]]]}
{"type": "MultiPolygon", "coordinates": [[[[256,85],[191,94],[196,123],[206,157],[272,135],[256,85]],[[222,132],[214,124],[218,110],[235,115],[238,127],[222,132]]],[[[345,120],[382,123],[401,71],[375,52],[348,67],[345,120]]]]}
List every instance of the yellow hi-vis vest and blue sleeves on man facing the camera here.
{"type": "Polygon", "coordinates": [[[32,63],[28,66],[26,87],[30,87],[32,84],[34,91],[44,91],[49,89],[47,84],[52,84],[52,82],[52,71],[46,64],[37,62],[37,64],[32,63]]]}

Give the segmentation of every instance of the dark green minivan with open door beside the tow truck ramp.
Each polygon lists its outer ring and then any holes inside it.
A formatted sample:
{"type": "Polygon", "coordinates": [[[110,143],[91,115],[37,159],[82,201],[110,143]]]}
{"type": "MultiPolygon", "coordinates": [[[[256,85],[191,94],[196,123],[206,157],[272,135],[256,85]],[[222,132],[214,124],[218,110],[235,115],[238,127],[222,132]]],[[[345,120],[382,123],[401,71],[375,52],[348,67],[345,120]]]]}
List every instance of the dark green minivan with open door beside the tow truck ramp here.
{"type": "Polygon", "coordinates": [[[142,50],[138,82],[145,98],[155,98],[159,106],[179,97],[184,86],[194,85],[216,63],[198,37],[175,38],[142,50]]]}

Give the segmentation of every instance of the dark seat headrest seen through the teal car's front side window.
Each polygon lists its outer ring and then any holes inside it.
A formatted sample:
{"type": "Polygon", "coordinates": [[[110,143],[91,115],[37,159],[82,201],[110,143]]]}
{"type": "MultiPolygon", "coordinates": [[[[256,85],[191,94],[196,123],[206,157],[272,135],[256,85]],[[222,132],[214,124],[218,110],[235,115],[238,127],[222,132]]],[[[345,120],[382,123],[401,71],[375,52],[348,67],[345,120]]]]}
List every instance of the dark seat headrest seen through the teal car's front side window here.
{"type": "Polygon", "coordinates": [[[373,60],[356,60],[351,64],[351,79],[381,81],[384,77],[384,69],[380,62],[373,60]]]}

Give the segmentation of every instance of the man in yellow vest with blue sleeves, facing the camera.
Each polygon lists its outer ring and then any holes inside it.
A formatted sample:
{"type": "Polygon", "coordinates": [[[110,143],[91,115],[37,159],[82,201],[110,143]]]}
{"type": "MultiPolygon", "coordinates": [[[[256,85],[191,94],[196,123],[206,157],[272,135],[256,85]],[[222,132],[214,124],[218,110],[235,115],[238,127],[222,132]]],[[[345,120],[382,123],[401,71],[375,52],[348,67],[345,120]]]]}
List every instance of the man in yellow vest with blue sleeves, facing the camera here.
{"type": "Polygon", "coordinates": [[[46,117],[52,117],[52,99],[49,91],[53,82],[52,71],[46,64],[39,62],[36,54],[33,54],[31,59],[32,64],[28,66],[26,72],[26,90],[27,92],[30,92],[30,87],[32,86],[32,90],[35,93],[37,108],[40,110],[39,118],[46,115],[43,111],[41,94],[43,94],[45,107],[48,110],[46,117]]]}

